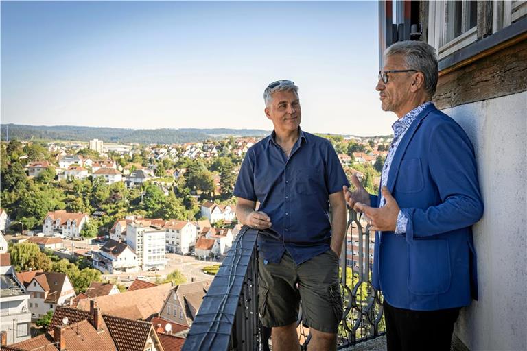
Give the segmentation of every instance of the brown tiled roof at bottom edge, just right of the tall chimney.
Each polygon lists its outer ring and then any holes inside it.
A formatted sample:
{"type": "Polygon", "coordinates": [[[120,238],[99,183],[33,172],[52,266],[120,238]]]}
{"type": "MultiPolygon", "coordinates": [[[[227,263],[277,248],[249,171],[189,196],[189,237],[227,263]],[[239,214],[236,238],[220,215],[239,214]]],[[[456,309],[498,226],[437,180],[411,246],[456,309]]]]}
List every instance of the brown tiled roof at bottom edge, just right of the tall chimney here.
{"type": "Polygon", "coordinates": [[[111,315],[103,315],[103,319],[119,351],[143,351],[150,335],[152,335],[154,343],[158,339],[150,322],[111,315]]]}

